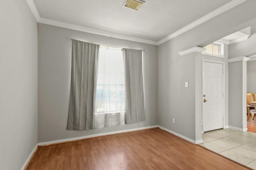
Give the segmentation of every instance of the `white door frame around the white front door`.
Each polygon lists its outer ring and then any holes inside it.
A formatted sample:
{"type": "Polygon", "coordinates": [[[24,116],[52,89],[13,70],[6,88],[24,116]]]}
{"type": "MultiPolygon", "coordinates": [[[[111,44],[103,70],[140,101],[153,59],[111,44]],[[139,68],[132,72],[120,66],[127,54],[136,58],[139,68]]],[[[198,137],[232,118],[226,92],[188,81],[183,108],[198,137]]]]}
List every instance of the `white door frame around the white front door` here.
{"type": "MultiPolygon", "coordinates": [[[[226,129],[225,127],[225,98],[226,98],[226,95],[225,95],[225,87],[226,87],[226,84],[225,84],[225,62],[224,61],[216,61],[216,60],[208,60],[208,59],[202,59],[202,65],[204,62],[208,62],[208,63],[218,63],[218,64],[222,64],[222,69],[223,69],[223,129],[226,129]]],[[[202,67],[202,83],[203,83],[203,67],[202,67]]],[[[202,87],[203,87],[203,84],[202,84],[202,87]]],[[[203,89],[202,89],[202,93],[203,93],[203,89]]],[[[202,98],[203,98],[203,94],[201,95],[202,98]]],[[[202,103],[203,103],[203,100],[202,100],[202,103]]],[[[202,108],[202,134],[204,133],[204,129],[203,129],[203,108],[202,108]]]]}

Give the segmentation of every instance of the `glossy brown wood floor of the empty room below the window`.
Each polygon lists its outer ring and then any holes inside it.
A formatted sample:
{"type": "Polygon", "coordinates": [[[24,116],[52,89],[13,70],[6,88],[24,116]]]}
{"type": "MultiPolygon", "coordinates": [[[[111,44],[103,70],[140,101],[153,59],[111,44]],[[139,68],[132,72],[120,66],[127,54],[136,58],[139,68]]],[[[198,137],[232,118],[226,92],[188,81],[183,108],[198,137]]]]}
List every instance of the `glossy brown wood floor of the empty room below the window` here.
{"type": "Polygon", "coordinates": [[[39,147],[26,170],[246,169],[161,129],[39,147]]]}

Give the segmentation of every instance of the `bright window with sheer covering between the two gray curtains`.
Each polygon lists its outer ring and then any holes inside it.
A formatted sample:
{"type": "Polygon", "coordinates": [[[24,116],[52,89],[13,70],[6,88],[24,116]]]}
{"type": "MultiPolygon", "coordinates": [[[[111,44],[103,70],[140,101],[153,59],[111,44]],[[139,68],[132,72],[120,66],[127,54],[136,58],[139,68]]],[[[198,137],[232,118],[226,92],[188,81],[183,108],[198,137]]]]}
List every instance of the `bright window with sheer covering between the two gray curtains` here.
{"type": "Polygon", "coordinates": [[[100,46],[95,114],[124,112],[124,90],[122,50],[100,46]]]}

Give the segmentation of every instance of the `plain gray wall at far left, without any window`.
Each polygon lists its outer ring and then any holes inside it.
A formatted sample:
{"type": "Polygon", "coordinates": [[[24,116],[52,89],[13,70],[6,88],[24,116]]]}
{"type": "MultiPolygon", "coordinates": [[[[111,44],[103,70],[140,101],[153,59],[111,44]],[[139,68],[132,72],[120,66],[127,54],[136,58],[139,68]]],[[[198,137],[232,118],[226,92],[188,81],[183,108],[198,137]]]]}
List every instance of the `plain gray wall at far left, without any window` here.
{"type": "Polygon", "coordinates": [[[37,141],[37,23],[25,0],[0,2],[0,169],[18,170],[37,141]]]}

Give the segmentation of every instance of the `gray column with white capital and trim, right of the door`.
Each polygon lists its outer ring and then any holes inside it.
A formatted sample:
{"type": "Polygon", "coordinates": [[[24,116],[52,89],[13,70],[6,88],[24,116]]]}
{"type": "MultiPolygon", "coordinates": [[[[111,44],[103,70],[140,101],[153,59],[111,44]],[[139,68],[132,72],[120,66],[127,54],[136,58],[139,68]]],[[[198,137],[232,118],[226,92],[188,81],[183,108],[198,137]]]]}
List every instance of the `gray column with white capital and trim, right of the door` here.
{"type": "Polygon", "coordinates": [[[228,59],[228,126],[247,131],[246,92],[249,57],[228,59]]]}

